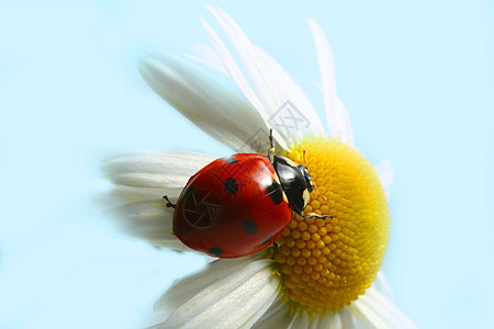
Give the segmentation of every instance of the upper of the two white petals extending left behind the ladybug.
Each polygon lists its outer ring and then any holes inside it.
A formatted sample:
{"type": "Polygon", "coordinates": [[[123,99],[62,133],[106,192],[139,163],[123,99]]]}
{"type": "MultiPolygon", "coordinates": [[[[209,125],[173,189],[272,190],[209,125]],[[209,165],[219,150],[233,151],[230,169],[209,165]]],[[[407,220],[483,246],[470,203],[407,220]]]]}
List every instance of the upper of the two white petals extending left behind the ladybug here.
{"type": "Polygon", "coordinates": [[[147,151],[110,158],[101,170],[115,184],[172,189],[184,186],[191,175],[213,160],[192,151],[147,151]]]}

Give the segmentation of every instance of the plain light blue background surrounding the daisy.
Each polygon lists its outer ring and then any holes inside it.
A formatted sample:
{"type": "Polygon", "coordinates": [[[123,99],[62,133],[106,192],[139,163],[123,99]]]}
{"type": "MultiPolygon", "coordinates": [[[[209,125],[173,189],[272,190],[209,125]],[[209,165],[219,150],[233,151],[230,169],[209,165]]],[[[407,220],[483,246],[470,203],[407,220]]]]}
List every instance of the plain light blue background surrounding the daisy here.
{"type": "MultiPolygon", "coordinates": [[[[420,328],[494,327],[490,2],[216,3],[321,113],[305,19],[322,24],[356,144],[394,168],[384,270],[395,303],[420,328]]],[[[137,72],[146,50],[206,43],[199,12],[202,1],[0,1],[1,328],[134,328],[173,279],[204,264],[88,211],[108,188],[105,155],[229,154],[137,72]]]]}

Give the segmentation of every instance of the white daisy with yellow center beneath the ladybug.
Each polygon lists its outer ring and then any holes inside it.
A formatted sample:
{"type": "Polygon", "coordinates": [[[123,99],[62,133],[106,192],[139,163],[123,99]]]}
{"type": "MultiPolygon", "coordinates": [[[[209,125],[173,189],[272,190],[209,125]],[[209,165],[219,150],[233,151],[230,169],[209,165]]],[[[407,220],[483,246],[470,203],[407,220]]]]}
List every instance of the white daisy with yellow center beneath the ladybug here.
{"type": "MultiPolygon", "coordinates": [[[[148,84],[177,111],[235,152],[277,154],[306,163],[321,196],[293,215],[276,245],[258,253],[211,262],[176,282],[155,304],[156,328],[415,328],[378,290],[389,239],[388,162],[374,168],[353,146],[348,114],[335,88],[324,32],[308,21],[321,70],[325,129],[289,73],[252,44],[223,10],[209,7],[220,29],[202,18],[212,45],[199,55],[154,55],[141,64],[148,84]],[[186,60],[186,57],[188,60],[186,60]],[[227,77],[233,94],[195,66],[227,77]],[[306,159],[304,159],[304,152],[306,159]],[[305,160],[305,162],[304,162],[305,160]]],[[[172,235],[176,201],[189,178],[214,158],[192,151],[147,151],[108,159],[115,184],[105,214],[155,246],[188,250],[172,235]]]]}

